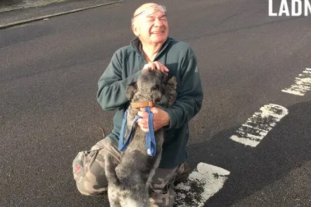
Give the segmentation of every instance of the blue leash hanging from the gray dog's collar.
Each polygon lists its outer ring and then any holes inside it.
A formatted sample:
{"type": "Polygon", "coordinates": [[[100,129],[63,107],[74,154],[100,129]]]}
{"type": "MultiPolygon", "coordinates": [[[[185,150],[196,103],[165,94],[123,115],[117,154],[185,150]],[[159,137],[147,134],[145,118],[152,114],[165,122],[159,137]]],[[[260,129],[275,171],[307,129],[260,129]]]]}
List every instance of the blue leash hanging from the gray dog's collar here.
{"type": "MultiPolygon", "coordinates": [[[[155,156],[156,154],[156,142],[155,142],[155,132],[154,132],[154,114],[150,111],[150,107],[145,107],[145,111],[148,113],[148,128],[149,132],[146,133],[146,149],[147,149],[147,154],[149,156],[155,156]]],[[[121,126],[121,131],[120,131],[120,136],[119,136],[119,145],[118,148],[122,152],[124,151],[129,143],[131,142],[133,131],[135,124],[138,119],[140,119],[140,116],[135,116],[133,119],[133,125],[131,127],[131,131],[129,135],[127,136],[127,139],[124,143],[124,132],[125,132],[125,126],[126,126],[126,119],[127,119],[127,110],[124,113],[123,120],[122,120],[122,126],[121,126]]]]}

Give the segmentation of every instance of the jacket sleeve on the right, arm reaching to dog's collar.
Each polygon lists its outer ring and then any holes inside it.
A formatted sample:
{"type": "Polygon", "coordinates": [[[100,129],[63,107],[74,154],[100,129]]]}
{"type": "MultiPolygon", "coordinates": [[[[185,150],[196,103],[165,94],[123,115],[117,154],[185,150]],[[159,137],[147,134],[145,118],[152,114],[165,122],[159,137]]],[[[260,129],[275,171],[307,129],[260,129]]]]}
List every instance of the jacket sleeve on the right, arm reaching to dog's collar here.
{"type": "Polygon", "coordinates": [[[173,107],[165,109],[170,117],[169,129],[185,125],[200,111],[203,91],[197,61],[192,55],[184,62],[177,98],[173,107]]]}

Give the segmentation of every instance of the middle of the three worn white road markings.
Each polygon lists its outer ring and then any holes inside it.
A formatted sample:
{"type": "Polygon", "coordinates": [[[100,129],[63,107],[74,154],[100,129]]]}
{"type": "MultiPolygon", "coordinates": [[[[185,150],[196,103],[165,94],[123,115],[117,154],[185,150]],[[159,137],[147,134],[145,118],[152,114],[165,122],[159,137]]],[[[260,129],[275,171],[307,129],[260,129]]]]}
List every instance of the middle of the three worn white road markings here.
{"type": "Polygon", "coordinates": [[[288,110],[276,104],[264,105],[237,130],[231,140],[256,147],[276,123],[288,114],[288,110]]]}

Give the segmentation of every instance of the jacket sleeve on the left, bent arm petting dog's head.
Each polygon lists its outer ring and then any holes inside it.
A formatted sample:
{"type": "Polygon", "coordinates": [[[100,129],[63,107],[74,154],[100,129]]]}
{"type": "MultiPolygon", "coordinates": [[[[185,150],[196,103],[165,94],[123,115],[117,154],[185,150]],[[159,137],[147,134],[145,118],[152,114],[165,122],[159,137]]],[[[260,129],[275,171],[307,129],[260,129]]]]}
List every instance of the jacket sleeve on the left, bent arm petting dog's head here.
{"type": "Polygon", "coordinates": [[[109,65],[98,81],[97,101],[104,111],[121,107],[128,102],[126,98],[127,85],[136,82],[141,71],[122,78],[123,63],[118,51],[113,55],[109,65]]]}

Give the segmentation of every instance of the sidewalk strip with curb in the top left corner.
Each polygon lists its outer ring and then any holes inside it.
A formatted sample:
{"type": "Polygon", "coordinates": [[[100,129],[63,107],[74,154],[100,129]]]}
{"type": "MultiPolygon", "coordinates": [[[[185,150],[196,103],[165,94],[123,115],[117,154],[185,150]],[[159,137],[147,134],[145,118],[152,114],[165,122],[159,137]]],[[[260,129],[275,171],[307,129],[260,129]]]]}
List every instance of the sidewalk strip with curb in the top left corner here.
{"type": "Polygon", "coordinates": [[[2,0],[0,29],[121,1],[123,0],[2,0]]]}

